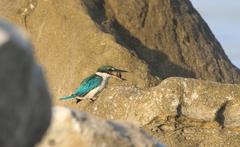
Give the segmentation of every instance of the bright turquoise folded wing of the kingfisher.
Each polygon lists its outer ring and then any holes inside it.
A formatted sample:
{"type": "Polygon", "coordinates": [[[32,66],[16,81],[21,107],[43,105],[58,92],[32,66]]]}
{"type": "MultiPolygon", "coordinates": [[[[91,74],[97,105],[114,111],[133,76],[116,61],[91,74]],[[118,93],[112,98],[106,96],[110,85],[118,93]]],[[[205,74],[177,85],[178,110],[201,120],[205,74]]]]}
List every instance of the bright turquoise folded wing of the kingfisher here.
{"type": "Polygon", "coordinates": [[[83,97],[92,89],[98,87],[102,82],[102,77],[94,74],[84,79],[80,86],[75,90],[74,95],[83,97]]]}

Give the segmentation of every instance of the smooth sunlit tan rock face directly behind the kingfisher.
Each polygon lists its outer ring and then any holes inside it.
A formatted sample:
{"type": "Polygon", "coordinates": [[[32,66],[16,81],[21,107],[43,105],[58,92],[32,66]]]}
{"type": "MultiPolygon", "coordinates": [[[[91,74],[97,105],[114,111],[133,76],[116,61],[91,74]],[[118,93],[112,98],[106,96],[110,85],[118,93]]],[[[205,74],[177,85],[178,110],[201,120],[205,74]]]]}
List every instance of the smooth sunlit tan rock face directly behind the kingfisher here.
{"type": "Polygon", "coordinates": [[[54,96],[60,97],[71,91],[80,80],[103,64],[129,70],[126,77],[129,84],[147,87],[157,82],[143,61],[96,27],[80,1],[38,1],[31,11],[27,11],[29,13],[26,12],[26,17],[18,14],[15,8],[24,10],[31,3],[26,6],[21,2],[17,4],[9,4],[7,12],[1,14],[26,26],[37,48],[39,62],[46,69],[54,96]],[[9,17],[13,15],[10,12],[22,19],[9,17]]]}

